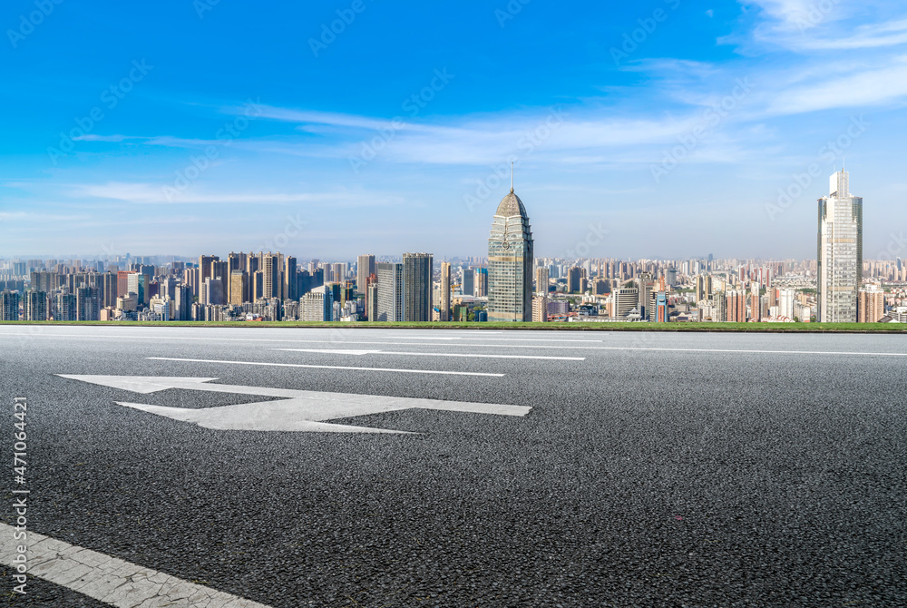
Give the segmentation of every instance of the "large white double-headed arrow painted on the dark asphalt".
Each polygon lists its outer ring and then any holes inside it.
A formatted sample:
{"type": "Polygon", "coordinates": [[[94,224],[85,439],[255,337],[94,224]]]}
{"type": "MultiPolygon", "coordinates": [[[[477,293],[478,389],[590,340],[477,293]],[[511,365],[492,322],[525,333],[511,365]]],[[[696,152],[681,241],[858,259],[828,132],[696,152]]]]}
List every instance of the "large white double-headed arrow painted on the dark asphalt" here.
{"type": "Polygon", "coordinates": [[[435,409],[449,412],[494,414],[497,416],[526,416],[532,407],[505,406],[490,403],[464,401],[442,401],[413,397],[385,397],[379,395],[356,395],[347,393],[325,393],[294,388],[243,387],[226,384],[209,384],[217,378],[180,378],[158,376],[73,376],[58,374],[61,378],[79,380],[103,387],[122,388],[134,393],[148,395],[170,388],[201,390],[212,393],[256,395],[258,397],[282,397],[278,401],[244,403],[236,406],[205,407],[163,407],[142,403],[117,401],[125,407],[132,407],[150,414],[189,422],[200,427],[220,430],[244,431],[297,431],[329,433],[406,433],[406,431],[383,428],[352,427],[327,423],[336,420],[403,409],[435,409]]]}

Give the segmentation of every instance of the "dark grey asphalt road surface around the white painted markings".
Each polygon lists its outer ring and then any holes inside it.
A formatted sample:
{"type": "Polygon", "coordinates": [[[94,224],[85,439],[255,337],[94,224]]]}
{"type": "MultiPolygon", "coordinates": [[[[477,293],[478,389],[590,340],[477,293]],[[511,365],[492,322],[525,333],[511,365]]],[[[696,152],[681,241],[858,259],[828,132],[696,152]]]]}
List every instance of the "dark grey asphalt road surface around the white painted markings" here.
{"type": "MultiPolygon", "coordinates": [[[[26,397],[29,529],[274,608],[903,606],[899,354],[905,336],[4,326],[0,441],[26,397]],[[277,397],[59,374],[532,410],[217,430],[117,402],[277,397]]],[[[0,603],[107,605],[9,574],[0,603]]]]}

